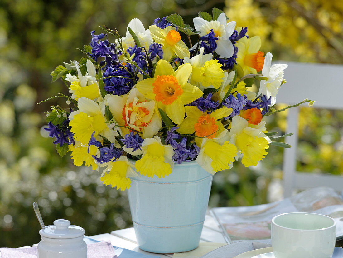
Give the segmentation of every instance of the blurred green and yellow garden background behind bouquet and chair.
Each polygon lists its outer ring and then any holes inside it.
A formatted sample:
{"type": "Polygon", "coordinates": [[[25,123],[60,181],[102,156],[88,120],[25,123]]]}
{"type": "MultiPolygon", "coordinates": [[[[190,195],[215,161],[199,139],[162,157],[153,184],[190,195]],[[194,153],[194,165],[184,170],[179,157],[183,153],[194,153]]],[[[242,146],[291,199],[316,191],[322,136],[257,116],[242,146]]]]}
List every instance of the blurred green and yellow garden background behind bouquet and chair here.
{"type": "MultiPolygon", "coordinates": [[[[44,138],[44,111],[67,93],[50,72],[89,44],[90,32],[106,25],[125,35],[132,18],[145,27],[157,17],[179,13],[185,22],[199,11],[225,10],[248,35],[260,35],[273,60],[342,64],[343,2],[326,0],[1,0],[0,1],[0,247],[39,242],[32,203],[44,221],[66,218],[87,235],[131,226],[126,192],[105,187],[97,171],[76,168],[44,138]]],[[[285,78],[287,79],[287,78],[285,78]]],[[[287,84],[283,87],[287,87],[287,84]]],[[[330,97],[323,96],[326,98],[330,97]]],[[[64,100],[59,103],[66,107],[64,100]]],[[[269,131],[283,132],[285,113],[269,117],[269,131]]],[[[303,108],[299,171],[343,171],[343,113],[303,108]],[[306,113],[306,115],[305,115],[306,113]]],[[[282,198],[282,148],[270,146],[254,168],[237,162],[214,177],[210,206],[255,205],[282,198]]]]}

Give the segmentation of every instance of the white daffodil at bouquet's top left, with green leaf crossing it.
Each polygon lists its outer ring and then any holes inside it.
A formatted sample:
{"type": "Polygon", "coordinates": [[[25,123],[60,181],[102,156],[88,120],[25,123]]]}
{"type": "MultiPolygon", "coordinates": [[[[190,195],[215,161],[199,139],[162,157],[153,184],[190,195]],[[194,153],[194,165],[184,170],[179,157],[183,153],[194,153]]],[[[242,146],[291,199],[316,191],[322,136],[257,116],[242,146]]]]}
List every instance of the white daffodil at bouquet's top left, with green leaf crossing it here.
{"type": "MultiPolygon", "coordinates": [[[[141,43],[141,47],[145,47],[146,51],[148,51],[149,46],[153,43],[149,29],[145,30],[143,23],[137,18],[132,19],[129,22],[128,27],[130,27],[130,29],[138,37],[138,40],[141,43]]],[[[126,49],[128,49],[129,47],[133,47],[136,45],[129,32],[129,29],[126,29],[126,36],[122,37],[121,41],[122,41],[122,46],[123,46],[124,51],[126,51],[126,49]]]]}

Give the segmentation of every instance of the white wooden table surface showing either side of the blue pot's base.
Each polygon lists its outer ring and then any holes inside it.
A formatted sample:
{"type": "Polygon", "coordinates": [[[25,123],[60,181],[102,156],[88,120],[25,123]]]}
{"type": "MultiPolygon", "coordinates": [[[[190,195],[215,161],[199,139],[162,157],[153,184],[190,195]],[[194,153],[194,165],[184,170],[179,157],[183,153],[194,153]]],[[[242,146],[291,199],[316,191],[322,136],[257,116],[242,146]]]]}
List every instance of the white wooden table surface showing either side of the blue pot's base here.
{"type": "MultiPolygon", "coordinates": [[[[110,240],[114,246],[130,249],[142,254],[149,254],[161,258],[173,257],[173,254],[153,254],[139,249],[133,227],[115,230],[111,234],[107,233],[90,237],[100,241],[110,240]]],[[[206,215],[200,242],[226,243],[217,221],[211,215],[206,215]]]]}

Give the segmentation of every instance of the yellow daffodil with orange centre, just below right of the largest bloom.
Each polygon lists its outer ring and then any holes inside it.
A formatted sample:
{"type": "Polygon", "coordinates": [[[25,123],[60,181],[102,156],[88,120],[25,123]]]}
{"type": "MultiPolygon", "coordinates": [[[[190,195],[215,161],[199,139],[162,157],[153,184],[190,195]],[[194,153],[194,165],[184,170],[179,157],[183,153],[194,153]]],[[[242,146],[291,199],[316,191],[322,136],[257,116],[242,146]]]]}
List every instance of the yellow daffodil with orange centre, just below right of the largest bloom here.
{"type": "MultiPolygon", "coordinates": [[[[213,139],[216,135],[224,131],[224,126],[218,119],[226,117],[231,114],[231,108],[220,108],[213,111],[211,114],[202,112],[196,106],[186,106],[185,120],[179,124],[180,127],[176,131],[180,134],[192,134],[195,132],[195,136],[206,137],[213,139]]],[[[201,138],[200,138],[201,139],[201,138]]],[[[199,138],[196,138],[196,143],[199,145],[199,138]]]]}

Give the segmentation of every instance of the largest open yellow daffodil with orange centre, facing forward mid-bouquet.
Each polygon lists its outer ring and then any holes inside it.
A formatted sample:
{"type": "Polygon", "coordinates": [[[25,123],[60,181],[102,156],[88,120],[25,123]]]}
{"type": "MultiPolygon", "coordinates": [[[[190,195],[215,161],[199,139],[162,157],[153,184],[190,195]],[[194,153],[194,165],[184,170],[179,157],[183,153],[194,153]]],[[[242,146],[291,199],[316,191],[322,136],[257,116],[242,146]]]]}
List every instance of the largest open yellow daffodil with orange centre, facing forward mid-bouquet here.
{"type": "Polygon", "coordinates": [[[183,64],[174,71],[166,60],[159,60],[154,78],[147,78],[136,84],[146,98],[155,100],[157,108],[165,110],[171,121],[180,124],[185,117],[185,105],[200,98],[203,92],[188,83],[192,72],[190,64],[183,64]]]}

